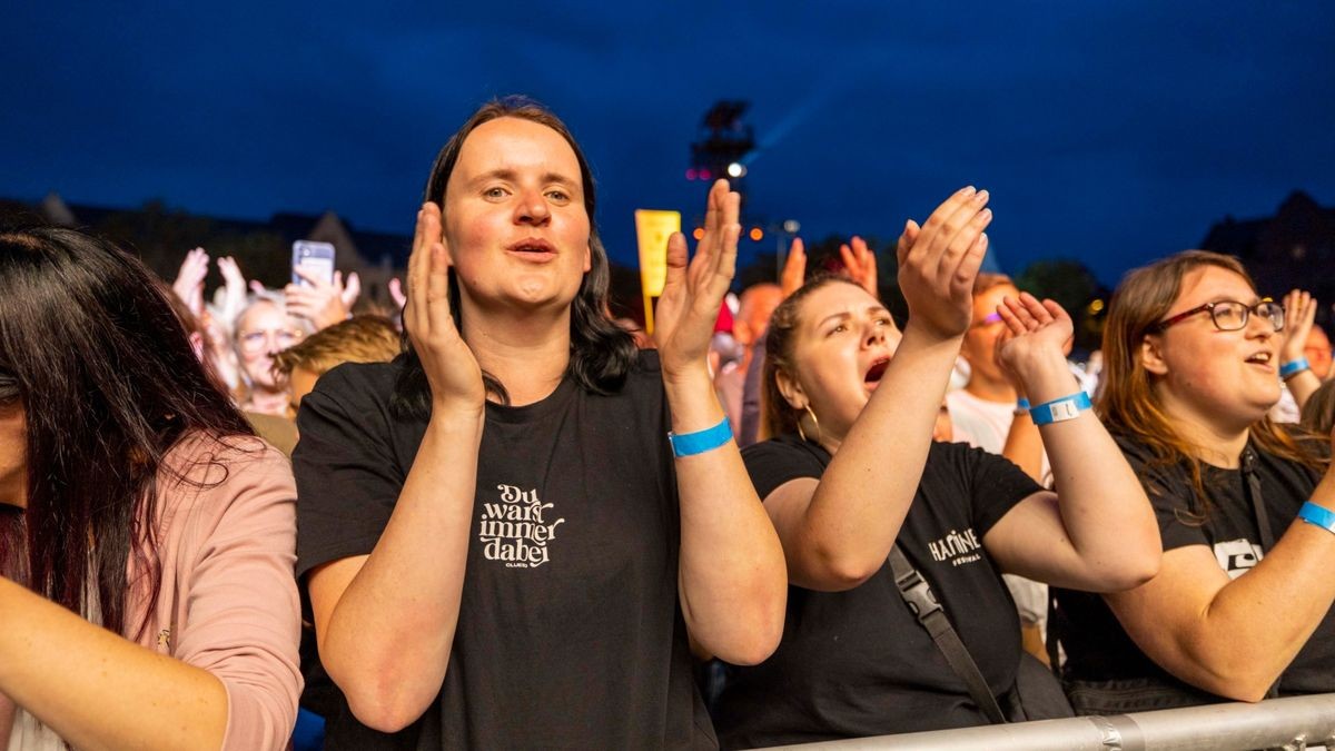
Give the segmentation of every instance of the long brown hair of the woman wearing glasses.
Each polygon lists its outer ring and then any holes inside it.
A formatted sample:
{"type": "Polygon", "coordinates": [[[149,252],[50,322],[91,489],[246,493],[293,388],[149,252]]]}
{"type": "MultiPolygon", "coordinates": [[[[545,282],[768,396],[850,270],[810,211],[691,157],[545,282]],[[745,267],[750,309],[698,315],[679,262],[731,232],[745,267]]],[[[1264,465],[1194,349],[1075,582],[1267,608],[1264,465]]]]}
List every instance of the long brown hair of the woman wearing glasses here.
{"type": "MultiPolygon", "coordinates": [[[[1204,520],[1210,508],[1202,484],[1202,462],[1196,458],[1197,448],[1177,432],[1172,418],[1164,413],[1152,389],[1149,371],[1140,365],[1140,350],[1145,337],[1177,299],[1183,279],[1203,266],[1232,271],[1256,289],[1247,269],[1236,258],[1206,250],[1187,250],[1129,271],[1108,306],[1108,322],[1103,330],[1104,369],[1096,405],[1109,430],[1143,444],[1149,449],[1155,465],[1188,466],[1196,490],[1197,521],[1204,520]]],[[[1270,416],[1252,424],[1251,438],[1270,454],[1314,469],[1324,469],[1328,462],[1314,445],[1320,437],[1306,432],[1291,434],[1279,429],[1270,416]]]]}

